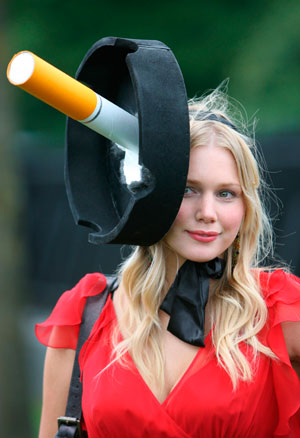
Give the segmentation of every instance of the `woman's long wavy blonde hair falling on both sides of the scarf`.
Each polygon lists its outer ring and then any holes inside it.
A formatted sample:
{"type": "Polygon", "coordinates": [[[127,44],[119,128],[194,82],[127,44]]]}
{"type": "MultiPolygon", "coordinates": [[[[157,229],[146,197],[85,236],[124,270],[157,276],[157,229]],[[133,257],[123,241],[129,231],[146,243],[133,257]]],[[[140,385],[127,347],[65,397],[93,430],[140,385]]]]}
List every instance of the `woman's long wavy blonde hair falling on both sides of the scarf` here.
{"type": "MultiPolygon", "coordinates": [[[[231,103],[220,87],[201,99],[189,102],[191,148],[208,144],[212,134],[217,145],[231,151],[236,161],[242,187],[245,216],[240,235],[240,256],[232,266],[232,245],[227,250],[227,264],[212,296],[212,340],[219,364],[230,375],[233,387],[238,381],[253,377],[252,362],[239,348],[242,341],[252,347],[253,364],[258,353],[274,358],[272,351],[257,338],[267,320],[267,308],[261,296],[257,269],[272,251],[272,229],[262,205],[264,188],[257,164],[255,143],[245,133],[245,126],[230,117],[231,103]],[[209,119],[209,114],[228,120],[229,125],[209,119]]],[[[236,109],[236,106],[235,106],[236,109]]],[[[221,119],[222,120],[222,119],[221,119]]],[[[148,383],[164,384],[164,355],[161,342],[159,307],[166,293],[166,246],[164,241],[137,247],[119,270],[125,293],[122,309],[122,342],[114,335],[116,360],[126,365],[129,351],[148,383]]]]}

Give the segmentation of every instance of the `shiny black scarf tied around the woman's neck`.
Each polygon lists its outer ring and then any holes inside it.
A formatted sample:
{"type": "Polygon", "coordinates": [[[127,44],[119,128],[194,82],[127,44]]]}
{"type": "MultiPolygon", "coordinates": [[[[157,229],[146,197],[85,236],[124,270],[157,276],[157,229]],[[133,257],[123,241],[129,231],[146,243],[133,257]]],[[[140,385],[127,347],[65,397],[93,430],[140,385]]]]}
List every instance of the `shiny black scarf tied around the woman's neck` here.
{"type": "Polygon", "coordinates": [[[205,306],[209,279],[221,278],[225,261],[215,258],[205,263],[187,260],[179,269],[160,308],[170,315],[168,331],[198,347],[204,345],[205,306]]]}

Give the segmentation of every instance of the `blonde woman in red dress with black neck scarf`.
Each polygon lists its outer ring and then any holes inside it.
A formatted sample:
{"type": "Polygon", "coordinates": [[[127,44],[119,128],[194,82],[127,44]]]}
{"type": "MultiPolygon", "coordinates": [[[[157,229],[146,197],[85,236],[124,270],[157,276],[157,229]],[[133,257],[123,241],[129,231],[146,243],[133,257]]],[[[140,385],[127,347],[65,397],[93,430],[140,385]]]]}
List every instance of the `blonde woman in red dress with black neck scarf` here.
{"type": "MultiPolygon", "coordinates": [[[[89,438],[300,436],[300,280],[260,268],[272,232],[255,146],[219,90],[189,108],[175,222],[125,261],[81,350],[83,429],[89,438]]],[[[48,346],[40,438],[64,415],[85,299],[105,285],[88,274],[37,326],[48,346]]]]}

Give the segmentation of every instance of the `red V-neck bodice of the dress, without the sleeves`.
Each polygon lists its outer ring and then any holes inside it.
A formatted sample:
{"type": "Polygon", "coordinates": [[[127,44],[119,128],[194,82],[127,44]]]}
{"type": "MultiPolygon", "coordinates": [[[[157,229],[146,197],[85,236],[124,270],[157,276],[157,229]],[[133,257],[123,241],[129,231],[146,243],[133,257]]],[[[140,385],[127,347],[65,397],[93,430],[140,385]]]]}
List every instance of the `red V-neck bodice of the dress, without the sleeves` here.
{"type": "MultiPolygon", "coordinates": [[[[210,342],[208,335],[208,346],[210,342]]],[[[171,348],[170,343],[167,348],[171,348]]],[[[203,364],[205,351],[196,352],[166,398],[159,400],[129,355],[127,367],[117,362],[109,365],[109,345],[90,345],[82,369],[83,412],[90,436],[271,436],[277,407],[268,363],[261,361],[251,384],[242,382],[237,391],[232,391],[228,375],[215,359],[203,364]]],[[[174,372],[176,367],[170,370],[174,372]]]]}

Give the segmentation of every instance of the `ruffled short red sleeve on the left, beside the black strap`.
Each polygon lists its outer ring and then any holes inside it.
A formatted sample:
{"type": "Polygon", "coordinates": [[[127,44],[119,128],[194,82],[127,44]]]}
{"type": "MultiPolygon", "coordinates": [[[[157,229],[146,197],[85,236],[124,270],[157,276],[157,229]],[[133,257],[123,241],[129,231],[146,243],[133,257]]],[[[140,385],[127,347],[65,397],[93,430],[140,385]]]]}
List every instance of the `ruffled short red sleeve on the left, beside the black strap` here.
{"type": "Polygon", "coordinates": [[[62,294],[49,318],[36,324],[35,334],[38,340],[48,347],[76,350],[86,298],[102,292],[105,286],[104,275],[85,275],[73,289],[62,294]]]}

